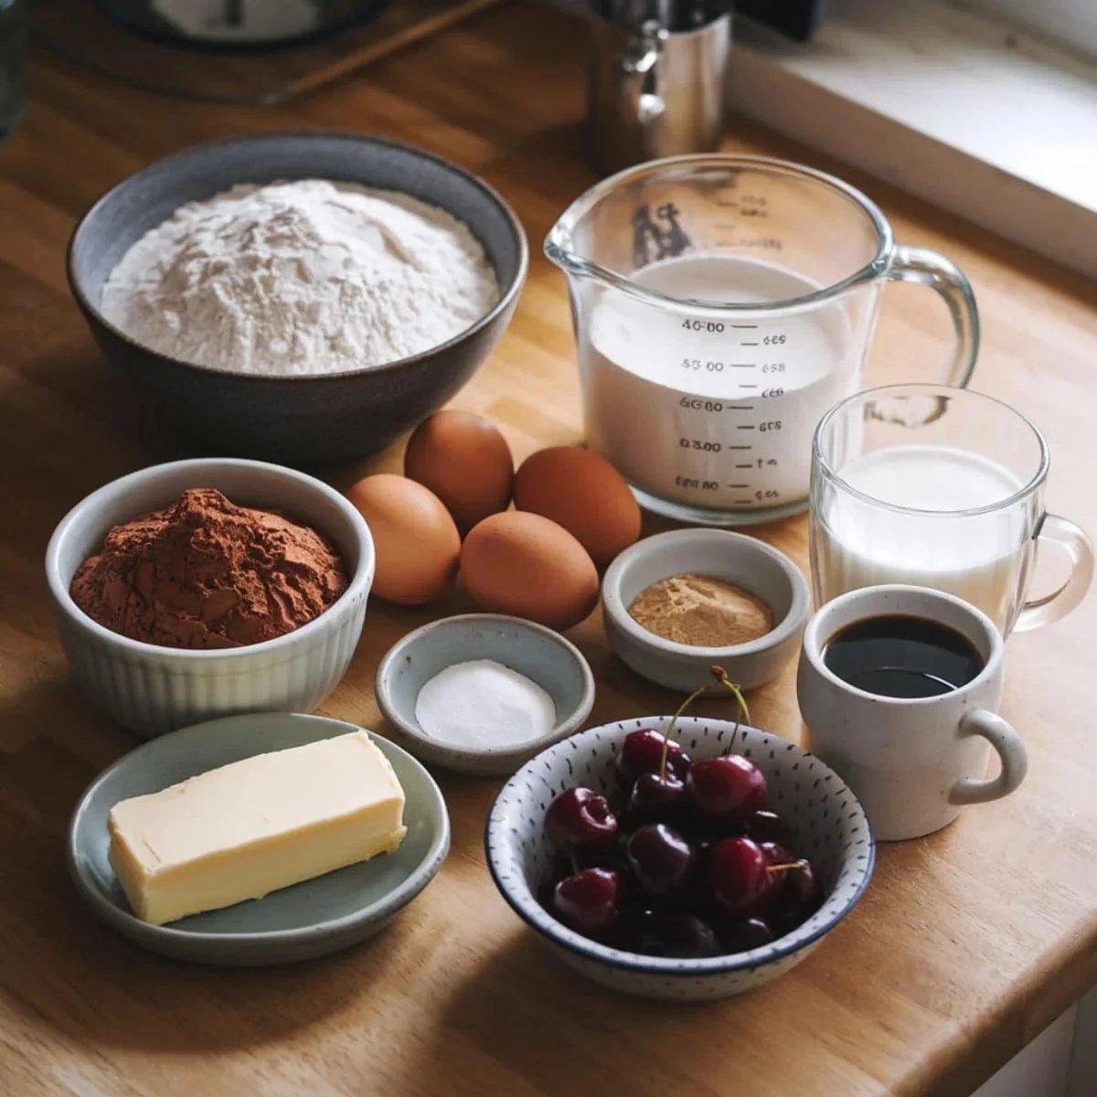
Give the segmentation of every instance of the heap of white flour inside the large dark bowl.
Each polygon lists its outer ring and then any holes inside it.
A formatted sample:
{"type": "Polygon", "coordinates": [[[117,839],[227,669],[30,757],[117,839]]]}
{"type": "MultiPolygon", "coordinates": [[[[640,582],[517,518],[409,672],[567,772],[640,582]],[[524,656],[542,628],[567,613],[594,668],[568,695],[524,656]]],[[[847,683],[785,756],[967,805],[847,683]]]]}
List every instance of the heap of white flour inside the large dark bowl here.
{"type": "Polygon", "coordinates": [[[483,247],[445,211],[310,179],[181,206],[125,253],[101,309],[172,358],[286,376],[430,350],[498,299],[483,247]]]}

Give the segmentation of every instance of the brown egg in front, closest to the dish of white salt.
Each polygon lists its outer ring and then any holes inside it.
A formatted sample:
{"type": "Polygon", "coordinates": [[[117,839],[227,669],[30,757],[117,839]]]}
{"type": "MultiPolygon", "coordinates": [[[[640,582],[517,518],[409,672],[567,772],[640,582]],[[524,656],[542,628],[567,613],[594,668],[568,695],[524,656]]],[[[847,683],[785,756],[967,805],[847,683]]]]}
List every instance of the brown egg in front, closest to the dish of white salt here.
{"type": "Polygon", "coordinates": [[[465,538],[461,581],[485,609],[554,629],[577,624],[598,600],[598,573],[583,545],[519,510],[485,518],[465,538]]]}

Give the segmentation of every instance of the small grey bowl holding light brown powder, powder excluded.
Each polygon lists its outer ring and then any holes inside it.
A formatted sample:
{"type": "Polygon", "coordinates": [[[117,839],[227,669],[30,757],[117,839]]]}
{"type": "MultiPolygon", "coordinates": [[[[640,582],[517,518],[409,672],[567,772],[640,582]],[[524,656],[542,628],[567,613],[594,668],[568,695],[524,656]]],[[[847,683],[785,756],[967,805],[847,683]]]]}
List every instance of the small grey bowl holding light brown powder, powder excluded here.
{"type": "Polygon", "coordinates": [[[644,678],[692,692],[722,666],[744,689],[777,677],[792,658],[807,622],[807,583],[782,552],[756,538],[726,530],[672,530],[625,548],[602,580],[602,608],[610,647],[644,678]],[[692,573],[734,583],[773,611],[773,627],[746,644],[694,647],[648,632],[629,613],[633,599],[653,583],[692,573]]]}

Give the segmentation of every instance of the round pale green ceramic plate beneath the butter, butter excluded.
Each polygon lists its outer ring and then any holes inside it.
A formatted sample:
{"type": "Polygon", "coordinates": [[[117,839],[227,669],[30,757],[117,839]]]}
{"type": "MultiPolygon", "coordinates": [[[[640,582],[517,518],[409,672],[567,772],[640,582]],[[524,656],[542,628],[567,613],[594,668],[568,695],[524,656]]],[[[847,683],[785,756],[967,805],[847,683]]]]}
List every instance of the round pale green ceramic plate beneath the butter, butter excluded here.
{"type": "Polygon", "coordinates": [[[450,849],[450,821],[433,778],[406,750],[372,732],[407,798],[408,833],[394,853],[167,926],[150,926],[132,913],[106,856],[106,816],[120,800],[257,754],[357,730],[324,716],[260,713],[195,724],[132,750],[92,782],[72,814],[68,861],[80,894],[135,943],[199,963],[287,963],[372,937],[430,883],[450,849]]]}

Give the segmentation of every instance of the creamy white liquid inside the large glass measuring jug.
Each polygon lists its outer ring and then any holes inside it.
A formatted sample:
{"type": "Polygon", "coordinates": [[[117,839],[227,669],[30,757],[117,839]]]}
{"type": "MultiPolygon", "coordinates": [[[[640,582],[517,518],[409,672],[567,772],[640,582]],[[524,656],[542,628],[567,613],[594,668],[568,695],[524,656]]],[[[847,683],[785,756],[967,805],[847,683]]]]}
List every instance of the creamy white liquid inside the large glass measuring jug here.
{"type": "MultiPolygon", "coordinates": [[[[689,255],[631,280],[672,297],[784,301],[819,286],[781,267],[689,255]]],[[[769,316],[691,317],[607,287],[580,340],[587,438],[633,487],[713,510],[795,509],[811,440],[857,387],[861,341],[840,302],[769,316]]]]}

